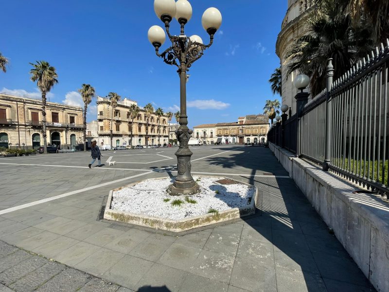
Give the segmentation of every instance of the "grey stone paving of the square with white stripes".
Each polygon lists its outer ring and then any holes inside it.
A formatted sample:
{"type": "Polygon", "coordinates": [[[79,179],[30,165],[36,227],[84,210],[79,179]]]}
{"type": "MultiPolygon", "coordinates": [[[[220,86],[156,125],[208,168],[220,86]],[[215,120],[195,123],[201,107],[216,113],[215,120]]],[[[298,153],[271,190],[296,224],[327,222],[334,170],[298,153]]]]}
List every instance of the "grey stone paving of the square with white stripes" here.
{"type": "Polygon", "coordinates": [[[0,159],[0,292],[374,291],[263,147],[192,148],[194,174],[258,186],[254,216],[178,236],[98,219],[110,189],[175,175],[176,150],[0,159]]]}

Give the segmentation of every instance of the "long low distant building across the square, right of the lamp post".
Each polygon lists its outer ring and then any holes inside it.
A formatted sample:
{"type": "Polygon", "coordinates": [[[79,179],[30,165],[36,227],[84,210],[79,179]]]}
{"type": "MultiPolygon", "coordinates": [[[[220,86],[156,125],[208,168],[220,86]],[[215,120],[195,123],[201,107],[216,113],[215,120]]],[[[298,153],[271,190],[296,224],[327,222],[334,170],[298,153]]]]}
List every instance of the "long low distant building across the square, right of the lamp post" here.
{"type": "Polygon", "coordinates": [[[266,115],[247,115],[237,122],[203,124],[194,127],[193,138],[202,144],[245,144],[265,142],[269,129],[266,115]]]}

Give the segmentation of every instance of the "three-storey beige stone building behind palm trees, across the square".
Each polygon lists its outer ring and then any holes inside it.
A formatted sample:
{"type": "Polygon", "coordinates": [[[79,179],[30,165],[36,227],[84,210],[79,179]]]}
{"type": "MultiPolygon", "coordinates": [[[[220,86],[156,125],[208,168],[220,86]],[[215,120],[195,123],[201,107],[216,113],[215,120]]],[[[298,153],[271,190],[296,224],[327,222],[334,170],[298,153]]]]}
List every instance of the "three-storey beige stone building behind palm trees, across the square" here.
{"type": "MultiPolygon", "coordinates": [[[[143,107],[140,108],[140,113],[137,118],[134,119],[134,125],[132,126],[132,143],[131,143],[131,118],[129,115],[129,108],[132,104],[138,105],[134,100],[124,98],[123,101],[118,103],[118,106],[113,111],[112,119],[112,144],[113,146],[136,146],[146,145],[146,113],[143,107]]],[[[99,146],[111,144],[111,117],[112,107],[110,101],[104,97],[97,98],[97,120],[98,120],[98,137],[99,146]]],[[[169,128],[168,118],[163,115],[160,121],[159,117],[152,114],[148,124],[148,145],[163,146],[168,144],[169,128]],[[160,132],[158,132],[160,131],[160,132]]]]}

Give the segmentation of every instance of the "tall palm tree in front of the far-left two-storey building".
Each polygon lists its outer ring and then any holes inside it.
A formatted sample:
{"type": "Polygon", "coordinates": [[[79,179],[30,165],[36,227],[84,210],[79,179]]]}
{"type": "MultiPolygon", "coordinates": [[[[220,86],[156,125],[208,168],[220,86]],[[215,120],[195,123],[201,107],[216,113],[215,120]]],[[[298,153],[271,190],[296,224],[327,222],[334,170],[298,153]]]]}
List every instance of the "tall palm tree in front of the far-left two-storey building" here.
{"type": "Polygon", "coordinates": [[[47,154],[47,135],[46,135],[46,94],[50,92],[58,77],[55,68],[46,61],[36,61],[36,64],[30,63],[34,68],[30,70],[31,80],[37,82],[37,86],[42,93],[42,122],[43,122],[43,153],[47,154]]]}

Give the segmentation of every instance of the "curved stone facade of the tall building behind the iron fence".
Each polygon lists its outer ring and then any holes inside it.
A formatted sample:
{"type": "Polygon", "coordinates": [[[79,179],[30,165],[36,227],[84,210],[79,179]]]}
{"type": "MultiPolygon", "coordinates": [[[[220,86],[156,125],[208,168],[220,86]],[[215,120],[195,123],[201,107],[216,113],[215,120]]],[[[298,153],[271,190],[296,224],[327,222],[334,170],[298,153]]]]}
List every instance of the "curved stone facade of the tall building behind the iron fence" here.
{"type": "Polygon", "coordinates": [[[282,104],[291,107],[292,114],[296,113],[296,99],[294,97],[298,92],[293,85],[293,80],[298,73],[294,72],[286,78],[285,53],[287,47],[304,34],[306,12],[312,5],[313,0],[288,0],[288,10],[283,18],[281,32],[277,37],[276,54],[280,57],[282,72],[282,104]]]}

